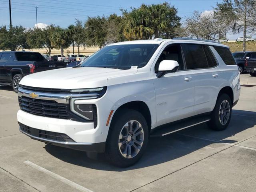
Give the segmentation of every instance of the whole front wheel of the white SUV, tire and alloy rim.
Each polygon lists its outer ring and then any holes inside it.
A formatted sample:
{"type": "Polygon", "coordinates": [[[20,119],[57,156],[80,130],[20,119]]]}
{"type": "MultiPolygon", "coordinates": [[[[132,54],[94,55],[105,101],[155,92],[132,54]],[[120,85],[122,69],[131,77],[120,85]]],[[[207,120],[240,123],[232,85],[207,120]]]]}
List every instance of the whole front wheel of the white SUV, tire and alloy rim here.
{"type": "Polygon", "coordinates": [[[144,116],[132,109],[121,110],[110,125],[106,153],[110,163],[119,167],[135,164],[148,144],[148,124],[144,116]]]}

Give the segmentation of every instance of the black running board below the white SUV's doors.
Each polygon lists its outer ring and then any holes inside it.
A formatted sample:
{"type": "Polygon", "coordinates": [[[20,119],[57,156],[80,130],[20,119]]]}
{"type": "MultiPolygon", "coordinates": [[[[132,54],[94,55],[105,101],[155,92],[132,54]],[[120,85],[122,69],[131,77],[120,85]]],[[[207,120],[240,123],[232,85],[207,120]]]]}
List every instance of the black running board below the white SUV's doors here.
{"type": "Polygon", "coordinates": [[[201,117],[196,117],[196,118],[188,118],[185,120],[179,120],[176,122],[166,124],[164,126],[159,126],[159,127],[154,128],[150,134],[150,137],[165,136],[165,135],[180,131],[182,129],[196,126],[201,123],[208,122],[208,121],[210,121],[209,116],[201,116],[201,117]]]}

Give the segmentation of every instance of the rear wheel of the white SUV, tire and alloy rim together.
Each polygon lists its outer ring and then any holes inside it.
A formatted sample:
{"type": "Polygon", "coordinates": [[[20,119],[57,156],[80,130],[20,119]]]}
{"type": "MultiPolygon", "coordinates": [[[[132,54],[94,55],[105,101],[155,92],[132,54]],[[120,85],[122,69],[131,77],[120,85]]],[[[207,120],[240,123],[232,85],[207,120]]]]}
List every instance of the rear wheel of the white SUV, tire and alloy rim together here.
{"type": "Polygon", "coordinates": [[[211,120],[208,122],[208,125],[213,130],[222,131],[226,129],[230,123],[231,114],[231,99],[227,94],[222,94],[216,101],[214,110],[211,114],[211,120]]]}

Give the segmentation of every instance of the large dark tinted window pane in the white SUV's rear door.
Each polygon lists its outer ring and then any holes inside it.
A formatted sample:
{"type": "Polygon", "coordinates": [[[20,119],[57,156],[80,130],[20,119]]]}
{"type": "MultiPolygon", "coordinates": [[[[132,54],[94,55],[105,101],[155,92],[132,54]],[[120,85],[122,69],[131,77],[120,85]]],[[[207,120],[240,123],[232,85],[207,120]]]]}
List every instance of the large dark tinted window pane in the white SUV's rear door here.
{"type": "Polygon", "coordinates": [[[208,68],[206,55],[202,45],[183,44],[184,56],[187,69],[208,68]]]}

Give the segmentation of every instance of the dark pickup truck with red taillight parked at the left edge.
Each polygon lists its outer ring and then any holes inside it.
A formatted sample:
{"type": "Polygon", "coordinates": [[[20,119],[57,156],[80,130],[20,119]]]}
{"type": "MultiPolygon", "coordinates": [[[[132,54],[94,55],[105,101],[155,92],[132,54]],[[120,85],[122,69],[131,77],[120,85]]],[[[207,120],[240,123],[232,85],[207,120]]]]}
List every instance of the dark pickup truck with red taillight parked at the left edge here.
{"type": "Polygon", "coordinates": [[[11,85],[17,92],[20,80],[31,73],[66,67],[66,62],[46,60],[38,52],[0,52],[0,85],[11,85]]]}

